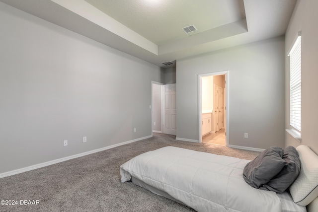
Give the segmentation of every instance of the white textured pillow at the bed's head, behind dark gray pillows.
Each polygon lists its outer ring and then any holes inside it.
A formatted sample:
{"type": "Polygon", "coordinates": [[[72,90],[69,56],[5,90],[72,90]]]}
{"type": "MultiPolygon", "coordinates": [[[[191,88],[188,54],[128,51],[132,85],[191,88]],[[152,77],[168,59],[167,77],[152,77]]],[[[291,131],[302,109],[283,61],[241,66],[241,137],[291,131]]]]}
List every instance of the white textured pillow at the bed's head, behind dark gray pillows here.
{"type": "Polygon", "coordinates": [[[299,145],[296,149],[301,168],[289,191],[295,203],[307,206],[318,197],[318,155],[306,145],[299,145]]]}

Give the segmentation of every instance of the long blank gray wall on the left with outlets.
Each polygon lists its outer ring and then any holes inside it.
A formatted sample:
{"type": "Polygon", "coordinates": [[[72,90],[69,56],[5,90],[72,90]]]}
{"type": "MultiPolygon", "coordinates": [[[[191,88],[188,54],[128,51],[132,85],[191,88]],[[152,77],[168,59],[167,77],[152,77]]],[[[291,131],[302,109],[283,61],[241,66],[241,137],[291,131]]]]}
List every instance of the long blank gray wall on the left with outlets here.
{"type": "Polygon", "coordinates": [[[152,135],[159,67],[2,2],[0,25],[0,173],[152,135]]]}

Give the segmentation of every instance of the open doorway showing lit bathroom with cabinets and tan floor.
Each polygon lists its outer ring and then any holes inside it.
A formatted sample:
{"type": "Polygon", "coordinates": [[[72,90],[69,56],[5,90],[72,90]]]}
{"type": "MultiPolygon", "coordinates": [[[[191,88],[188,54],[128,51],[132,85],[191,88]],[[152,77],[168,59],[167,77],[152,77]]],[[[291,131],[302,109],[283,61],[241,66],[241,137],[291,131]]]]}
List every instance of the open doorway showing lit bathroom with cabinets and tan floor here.
{"type": "Polygon", "coordinates": [[[228,145],[228,71],[199,75],[199,141],[228,145]]]}

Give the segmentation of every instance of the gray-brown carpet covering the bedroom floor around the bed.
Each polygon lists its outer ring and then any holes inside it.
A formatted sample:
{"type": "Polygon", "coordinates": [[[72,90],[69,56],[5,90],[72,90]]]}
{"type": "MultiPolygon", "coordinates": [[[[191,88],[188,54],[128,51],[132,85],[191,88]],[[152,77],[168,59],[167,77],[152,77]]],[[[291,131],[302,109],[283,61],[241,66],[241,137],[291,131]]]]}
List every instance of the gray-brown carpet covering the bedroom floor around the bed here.
{"type": "Polygon", "coordinates": [[[154,134],[150,139],[1,178],[0,200],[17,200],[18,205],[0,205],[0,211],[193,212],[132,183],[120,182],[121,164],[143,152],[168,145],[249,160],[259,154],[154,134]],[[39,205],[20,205],[20,200],[38,200],[39,205]]]}

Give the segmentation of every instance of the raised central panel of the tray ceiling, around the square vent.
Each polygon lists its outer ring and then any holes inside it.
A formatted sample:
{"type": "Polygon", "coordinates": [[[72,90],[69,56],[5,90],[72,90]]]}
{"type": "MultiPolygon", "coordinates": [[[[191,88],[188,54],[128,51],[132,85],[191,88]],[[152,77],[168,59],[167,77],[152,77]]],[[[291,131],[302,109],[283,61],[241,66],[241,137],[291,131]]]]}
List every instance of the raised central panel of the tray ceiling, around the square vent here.
{"type": "Polygon", "coordinates": [[[110,17],[157,45],[245,18],[243,0],[86,0],[110,17]],[[199,2],[199,3],[198,3],[199,2]]]}

